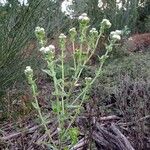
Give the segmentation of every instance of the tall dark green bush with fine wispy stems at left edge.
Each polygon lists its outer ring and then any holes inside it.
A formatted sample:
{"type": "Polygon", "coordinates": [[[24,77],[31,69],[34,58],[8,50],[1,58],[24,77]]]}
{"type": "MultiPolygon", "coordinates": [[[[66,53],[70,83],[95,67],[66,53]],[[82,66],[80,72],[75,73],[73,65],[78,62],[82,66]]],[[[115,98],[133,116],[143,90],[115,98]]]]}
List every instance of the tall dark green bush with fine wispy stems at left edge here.
{"type": "Polygon", "coordinates": [[[38,6],[39,2],[36,5],[20,6],[16,1],[0,6],[0,91],[5,91],[20,77],[28,55],[23,50],[33,35],[31,31],[37,22],[34,14],[38,6]]]}

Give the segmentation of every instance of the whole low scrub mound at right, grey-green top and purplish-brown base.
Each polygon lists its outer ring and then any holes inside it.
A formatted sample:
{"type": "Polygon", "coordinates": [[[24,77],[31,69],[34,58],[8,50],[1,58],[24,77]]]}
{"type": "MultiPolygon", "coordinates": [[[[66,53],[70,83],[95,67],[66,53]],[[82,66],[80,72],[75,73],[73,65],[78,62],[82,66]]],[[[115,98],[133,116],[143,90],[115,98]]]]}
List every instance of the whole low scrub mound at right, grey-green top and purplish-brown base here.
{"type": "Polygon", "coordinates": [[[121,117],[127,129],[122,132],[132,139],[133,147],[138,150],[148,149],[150,144],[147,140],[150,136],[149,57],[150,53],[146,52],[110,60],[90,94],[90,110],[96,116],[121,117]]]}

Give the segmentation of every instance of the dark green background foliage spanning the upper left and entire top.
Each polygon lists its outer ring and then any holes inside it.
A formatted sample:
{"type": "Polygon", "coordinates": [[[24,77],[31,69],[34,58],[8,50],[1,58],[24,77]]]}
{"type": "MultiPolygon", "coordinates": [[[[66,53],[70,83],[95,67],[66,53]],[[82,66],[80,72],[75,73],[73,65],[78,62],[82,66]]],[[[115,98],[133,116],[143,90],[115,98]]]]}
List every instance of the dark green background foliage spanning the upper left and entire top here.
{"type": "Polygon", "coordinates": [[[61,32],[67,32],[69,26],[75,26],[76,18],[86,12],[93,27],[99,27],[99,22],[107,18],[113,24],[111,30],[122,29],[127,25],[132,33],[138,29],[140,32],[149,31],[148,0],[143,0],[146,5],[140,8],[139,0],[127,0],[127,3],[121,1],[126,11],[117,9],[115,0],[103,0],[107,3],[107,9],[104,10],[97,6],[98,0],[75,0],[71,6],[75,10],[75,19],[71,20],[61,12],[63,0],[28,0],[28,5],[20,5],[18,0],[7,0],[6,5],[0,6],[0,92],[5,92],[16,80],[22,80],[26,65],[33,68],[40,65],[34,49],[28,58],[22,53],[28,43],[34,41],[36,26],[44,27],[48,37],[54,38],[61,32]],[[140,21],[143,12],[145,24],[140,21]]]}

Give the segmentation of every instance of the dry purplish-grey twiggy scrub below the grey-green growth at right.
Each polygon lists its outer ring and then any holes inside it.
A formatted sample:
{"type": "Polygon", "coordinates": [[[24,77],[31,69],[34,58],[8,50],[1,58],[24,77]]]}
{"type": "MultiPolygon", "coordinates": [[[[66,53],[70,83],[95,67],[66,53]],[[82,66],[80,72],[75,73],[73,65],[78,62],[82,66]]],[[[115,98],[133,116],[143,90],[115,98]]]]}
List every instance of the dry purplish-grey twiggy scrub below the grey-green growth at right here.
{"type": "MultiPolygon", "coordinates": [[[[97,85],[92,91],[91,109],[99,115],[121,117],[120,125],[124,135],[129,137],[135,149],[148,149],[150,136],[150,80],[128,75],[118,75],[117,84],[108,79],[107,83],[97,85]],[[94,104],[94,105],[93,105],[94,104]]],[[[115,80],[115,78],[114,78],[115,80]]]]}

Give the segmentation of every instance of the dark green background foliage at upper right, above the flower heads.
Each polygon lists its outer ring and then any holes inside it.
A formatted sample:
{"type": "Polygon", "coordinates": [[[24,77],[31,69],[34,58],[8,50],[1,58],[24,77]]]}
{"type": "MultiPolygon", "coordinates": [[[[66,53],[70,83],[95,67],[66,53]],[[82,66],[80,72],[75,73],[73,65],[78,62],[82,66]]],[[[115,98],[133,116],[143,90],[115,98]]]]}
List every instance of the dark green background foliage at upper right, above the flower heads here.
{"type": "MultiPolygon", "coordinates": [[[[122,2],[122,8],[118,9],[116,0],[102,0],[104,4],[100,9],[98,7],[98,0],[75,0],[74,9],[79,14],[88,12],[92,20],[93,26],[99,26],[100,20],[103,18],[109,19],[113,24],[111,30],[122,29],[127,25],[133,32],[138,31],[137,23],[140,21],[141,15],[146,19],[150,15],[150,2],[143,0],[144,7],[140,7],[138,4],[141,0],[120,0],[122,2]]],[[[144,24],[144,22],[142,22],[144,24]]],[[[146,29],[142,29],[145,31],[146,29]]]]}

